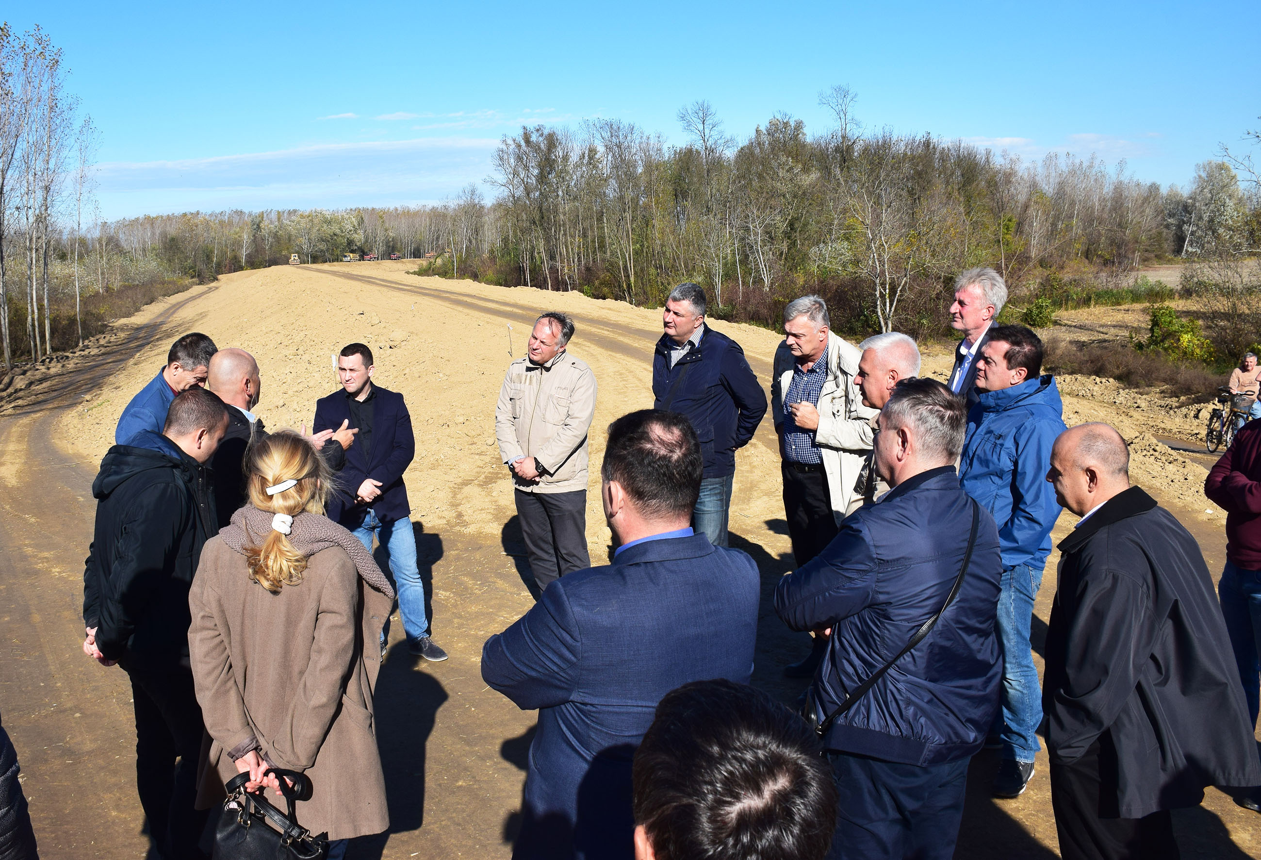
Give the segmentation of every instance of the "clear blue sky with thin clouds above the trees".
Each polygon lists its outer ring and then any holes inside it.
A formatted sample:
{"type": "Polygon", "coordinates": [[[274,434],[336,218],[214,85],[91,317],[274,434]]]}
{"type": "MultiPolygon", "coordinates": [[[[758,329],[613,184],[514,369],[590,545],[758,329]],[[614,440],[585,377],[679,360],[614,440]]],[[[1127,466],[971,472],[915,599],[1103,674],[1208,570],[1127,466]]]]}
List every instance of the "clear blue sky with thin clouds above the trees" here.
{"type": "Polygon", "coordinates": [[[866,129],[1093,151],[1161,184],[1261,126],[1256,0],[15,6],[101,129],[107,218],[438,202],[522,124],[682,142],[697,98],[740,139],[777,111],[822,131],[836,83],[866,129]]]}

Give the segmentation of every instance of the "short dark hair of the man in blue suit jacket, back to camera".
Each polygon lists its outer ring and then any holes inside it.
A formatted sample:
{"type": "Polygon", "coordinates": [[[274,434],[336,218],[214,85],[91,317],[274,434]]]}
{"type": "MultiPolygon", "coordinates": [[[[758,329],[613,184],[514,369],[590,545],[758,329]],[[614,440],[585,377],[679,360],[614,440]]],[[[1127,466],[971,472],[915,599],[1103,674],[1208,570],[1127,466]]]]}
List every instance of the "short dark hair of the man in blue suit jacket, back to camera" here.
{"type": "Polygon", "coordinates": [[[660,409],[623,415],[609,425],[600,474],[622,484],[648,518],[690,513],[705,474],[692,422],[660,409]]]}

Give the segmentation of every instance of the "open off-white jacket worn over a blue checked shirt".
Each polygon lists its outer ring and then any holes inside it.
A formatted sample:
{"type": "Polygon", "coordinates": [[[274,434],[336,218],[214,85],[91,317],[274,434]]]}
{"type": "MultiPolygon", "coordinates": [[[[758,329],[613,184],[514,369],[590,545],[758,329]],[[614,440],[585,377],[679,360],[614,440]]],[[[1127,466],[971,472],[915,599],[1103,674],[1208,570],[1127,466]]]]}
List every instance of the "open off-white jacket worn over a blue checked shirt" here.
{"type": "MultiPolygon", "coordinates": [[[[871,419],[879,410],[863,405],[863,395],[854,385],[863,353],[857,347],[827,333],[827,381],[818,395],[818,430],[815,443],[823,458],[827,489],[832,497],[832,516],[840,523],[857,502],[854,485],[863,474],[863,465],[875,434],[871,419]]],[[[770,414],[778,433],[784,421],[783,395],[792,382],[793,354],[784,340],[776,349],[774,373],[770,381],[770,414]]]]}

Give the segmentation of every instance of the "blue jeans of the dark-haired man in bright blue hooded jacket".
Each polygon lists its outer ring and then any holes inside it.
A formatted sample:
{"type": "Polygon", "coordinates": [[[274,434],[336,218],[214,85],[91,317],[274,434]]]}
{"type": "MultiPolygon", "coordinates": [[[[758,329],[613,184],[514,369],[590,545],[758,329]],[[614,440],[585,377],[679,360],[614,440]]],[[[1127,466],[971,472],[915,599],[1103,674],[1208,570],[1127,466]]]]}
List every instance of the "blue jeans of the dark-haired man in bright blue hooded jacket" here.
{"type": "Polygon", "coordinates": [[[1042,723],[1042,687],[1029,644],[1033,601],[1042,588],[1042,570],[1029,565],[1004,567],[999,590],[995,629],[1002,649],[1002,709],[995,728],[1002,739],[1002,758],[1018,762],[1033,762],[1042,749],[1037,734],[1042,723]]]}

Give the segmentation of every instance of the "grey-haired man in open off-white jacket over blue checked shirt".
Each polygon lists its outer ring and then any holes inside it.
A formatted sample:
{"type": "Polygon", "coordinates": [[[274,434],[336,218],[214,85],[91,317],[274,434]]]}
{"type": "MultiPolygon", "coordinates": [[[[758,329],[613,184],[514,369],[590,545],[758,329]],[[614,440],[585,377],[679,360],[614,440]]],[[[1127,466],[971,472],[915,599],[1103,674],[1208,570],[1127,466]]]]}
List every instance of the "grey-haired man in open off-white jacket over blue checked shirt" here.
{"type": "MultiPolygon", "coordinates": [[[[779,436],[784,517],[796,566],[827,546],[841,520],[864,503],[864,465],[876,410],[863,405],[854,383],[859,349],[828,328],[827,303],[817,295],[784,308],[784,339],[776,349],[770,410],[779,436]]],[[[816,638],[808,657],[784,668],[812,677],[827,642],[816,638]]]]}

